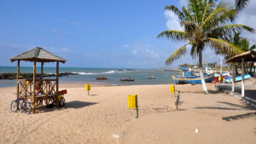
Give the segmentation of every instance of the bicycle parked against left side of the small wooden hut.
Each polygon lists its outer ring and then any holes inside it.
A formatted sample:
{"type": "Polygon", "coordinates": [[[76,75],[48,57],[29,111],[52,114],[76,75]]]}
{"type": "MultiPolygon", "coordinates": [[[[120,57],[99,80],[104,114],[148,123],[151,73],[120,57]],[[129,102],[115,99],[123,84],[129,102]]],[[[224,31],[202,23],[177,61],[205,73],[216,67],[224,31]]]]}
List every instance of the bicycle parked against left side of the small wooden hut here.
{"type": "Polygon", "coordinates": [[[21,109],[21,112],[24,112],[25,114],[30,114],[30,112],[32,112],[32,105],[30,102],[26,102],[22,98],[17,98],[15,101],[11,102],[10,111],[17,112],[19,109],[21,109]]]}

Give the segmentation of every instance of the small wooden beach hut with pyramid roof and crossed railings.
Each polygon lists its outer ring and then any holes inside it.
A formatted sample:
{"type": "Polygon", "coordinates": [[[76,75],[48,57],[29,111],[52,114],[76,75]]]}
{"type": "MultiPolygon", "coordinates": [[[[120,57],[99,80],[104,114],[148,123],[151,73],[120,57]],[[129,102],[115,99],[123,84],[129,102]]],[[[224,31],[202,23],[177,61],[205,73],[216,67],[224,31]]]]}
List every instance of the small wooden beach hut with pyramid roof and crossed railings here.
{"type": "Polygon", "coordinates": [[[65,59],[49,53],[47,50],[36,47],[20,55],[10,58],[12,62],[17,60],[17,98],[25,99],[32,103],[32,112],[36,110],[36,103],[45,101],[54,101],[58,107],[59,92],[59,63],[65,63],[65,59]],[[33,62],[33,78],[20,79],[20,61],[33,62]],[[41,77],[36,78],[37,62],[41,63],[41,77]],[[43,69],[45,62],[56,62],[56,78],[44,79],[43,69]]]}

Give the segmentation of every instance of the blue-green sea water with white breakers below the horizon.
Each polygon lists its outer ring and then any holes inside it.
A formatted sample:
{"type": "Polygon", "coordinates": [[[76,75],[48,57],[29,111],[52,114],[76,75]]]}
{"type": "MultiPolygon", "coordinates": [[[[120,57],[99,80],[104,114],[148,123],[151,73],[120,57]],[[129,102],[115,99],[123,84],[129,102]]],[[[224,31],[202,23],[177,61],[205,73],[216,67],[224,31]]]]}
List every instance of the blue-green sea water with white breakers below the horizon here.
{"type": "MultiPolygon", "coordinates": [[[[15,66],[0,66],[0,73],[15,73],[15,66]]],[[[37,68],[37,73],[41,69],[37,68]]],[[[55,73],[55,67],[44,67],[44,73],[55,73]]],[[[60,72],[73,72],[78,75],[60,77],[60,84],[106,84],[106,85],[143,85],[143,84],[174,84],[172,75],[179,72],[166,69],[125,69],[125,68],[81,68],[60,67],[60,72]],[[96,80],[104,76],[108,80],[96,80]],[[147,79],[154,76],[155,79],[147,79]],[[122,82],[120,78],[131,77],[133,82],[122,82]]],[[[20,73],[32,73],[32,67],[20,67],[20,73]]],[[[0,80],[0,87],[14,87],[16,80],[0,80]]]]}

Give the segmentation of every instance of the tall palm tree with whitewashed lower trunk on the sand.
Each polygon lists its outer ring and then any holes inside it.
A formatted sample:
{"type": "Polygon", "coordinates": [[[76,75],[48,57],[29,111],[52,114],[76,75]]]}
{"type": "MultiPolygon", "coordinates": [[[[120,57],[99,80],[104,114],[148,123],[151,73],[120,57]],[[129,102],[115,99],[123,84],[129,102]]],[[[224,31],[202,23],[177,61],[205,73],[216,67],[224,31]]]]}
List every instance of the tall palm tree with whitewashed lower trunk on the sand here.
{"type": "MultiPolygon", "coordinates": [[[[224,37],[234,32],[253,32],[253,28],[241,24],[230,24],[236,18],[236,9],[232,9],[230,3],[215,3],[214,0],[189,0],[188,7],[182,10],[174,5],[166,6],[177,14],[183,31],[167,30],[161,32],[158,37],[166,37],[175,41],[188,42],[175,50],[166,60],[166,65],[172,64],[187,53],[187,46],[191,45],[190,55],[193,58],[198,56],[199,67],[202,67],[202,51],[206,45],[215,51],[221,49],[222,54],[239,54],[241,49],[236,45],[226,42],[224,37]]],[[[205,80],[201,72],[202,87],[207,93],[205,80]]]]}

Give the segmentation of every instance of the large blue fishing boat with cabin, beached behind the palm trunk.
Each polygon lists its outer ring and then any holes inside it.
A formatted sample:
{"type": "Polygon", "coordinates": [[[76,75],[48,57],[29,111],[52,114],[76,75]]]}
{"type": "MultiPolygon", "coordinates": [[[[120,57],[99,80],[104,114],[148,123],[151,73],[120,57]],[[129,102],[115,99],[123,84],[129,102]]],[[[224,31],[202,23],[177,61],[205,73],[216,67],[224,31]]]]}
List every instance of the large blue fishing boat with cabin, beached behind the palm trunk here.
{"type": "MultiPolygon", "coordinates": [[[[201,84],[201,77],[195,71],[183,68],[181,73],[182,76],[172,76],[176,84],[201,84]]],[[[212,83],[214,73],[205,73],[203,76],[206,83],[212,83]]]]}

